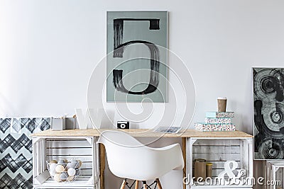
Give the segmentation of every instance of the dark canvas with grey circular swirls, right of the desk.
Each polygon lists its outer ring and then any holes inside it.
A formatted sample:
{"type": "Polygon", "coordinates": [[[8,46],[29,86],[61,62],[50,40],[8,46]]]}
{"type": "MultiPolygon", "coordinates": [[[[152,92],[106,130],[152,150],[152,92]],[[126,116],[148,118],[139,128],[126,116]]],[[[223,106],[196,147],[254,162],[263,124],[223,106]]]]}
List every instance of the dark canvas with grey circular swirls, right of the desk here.
{"type": "Polygon", "coordinates": [[[253,68],[254,158],[284,159],[284,69],[253,68]]]}

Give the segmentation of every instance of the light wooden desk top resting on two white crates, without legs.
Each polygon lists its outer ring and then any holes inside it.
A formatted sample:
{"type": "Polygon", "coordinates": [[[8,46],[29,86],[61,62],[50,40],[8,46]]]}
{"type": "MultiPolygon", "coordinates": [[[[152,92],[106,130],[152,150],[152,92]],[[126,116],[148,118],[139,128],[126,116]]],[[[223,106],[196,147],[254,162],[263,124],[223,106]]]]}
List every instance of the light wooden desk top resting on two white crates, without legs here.
{"type": "MultiPolygon", "coordinates": [[[[115,129],[99,129],[99,130],[62,130],[62,131],[52,131],[45,130],[43,132],[38,132],[31,134],[32,137],[98,137],[104,130],[115,130],[115,129]]],[[[195,137],[212,137],[212,138],[251,138],[250,134],[241,131],[215,131],[215,132],[202,132],[197,130],[181,130],[178,134],[165,134],[159,132],[153,132],[153,130],[147,129],[131,129],[123,130],[128,132],[133,137],[180,137],[180,138],[195,138],[195,137]]]]}

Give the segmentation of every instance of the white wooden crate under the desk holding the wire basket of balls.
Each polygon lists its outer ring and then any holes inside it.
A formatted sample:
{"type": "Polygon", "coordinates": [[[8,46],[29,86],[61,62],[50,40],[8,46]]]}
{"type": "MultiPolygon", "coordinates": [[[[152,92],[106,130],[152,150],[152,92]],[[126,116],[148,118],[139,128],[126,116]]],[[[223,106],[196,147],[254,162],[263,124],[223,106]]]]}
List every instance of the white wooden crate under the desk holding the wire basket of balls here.
{"type": "Polygon", "coordinates": [[[88,188],[98,183],[97,137],[33,137],[33,188],[88,188]],[[76,181],[58,183],[50,178],[46,161],[80,159],[82,167],[76,181]]]}

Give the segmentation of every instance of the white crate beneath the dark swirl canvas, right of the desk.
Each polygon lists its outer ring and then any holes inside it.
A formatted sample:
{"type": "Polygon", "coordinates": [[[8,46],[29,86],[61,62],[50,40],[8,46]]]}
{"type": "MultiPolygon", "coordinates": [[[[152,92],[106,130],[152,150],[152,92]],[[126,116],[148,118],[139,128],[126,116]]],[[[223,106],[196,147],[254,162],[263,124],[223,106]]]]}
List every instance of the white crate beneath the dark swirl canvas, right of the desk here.
{"type": "Polygon", "coordinates": [[[283,188],[284,177],[284,161],[271,160],[265,161],[265,181],[266,185],[263,185],[264,189],[278,189],[283,188]],[[268,185],[268,183],[270,183],[268,185]]]}

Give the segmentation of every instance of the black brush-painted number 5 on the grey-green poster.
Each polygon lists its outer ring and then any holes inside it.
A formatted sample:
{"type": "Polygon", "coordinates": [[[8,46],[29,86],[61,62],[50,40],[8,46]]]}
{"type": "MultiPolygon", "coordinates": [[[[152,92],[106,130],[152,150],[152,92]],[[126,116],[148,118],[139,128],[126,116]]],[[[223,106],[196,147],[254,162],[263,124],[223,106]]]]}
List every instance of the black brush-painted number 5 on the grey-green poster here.
{"type": "Polygon", "coordinates": [[[122,78],[123,70],[114,69],[113,70],[113,82],[114,87],[117,91],[123,93],[129,93],[133,95],[144,95],[148,93],[153,93],[157,90],[159,84],[159,70],[160,70],[160,52],[158,47],[152,42],[143,40],[132,40],[129,42],[123,42],[124,38],[124,21],[149,21],[149,30],[159,30],[160,29],[160,19],[149,19],[149,18],[118,18],[114,19],[114,58],[121,58],[124,55],[124,48],[132,44],[144,44],[148,47],[150,51],[150,81],[148,86],[143,91],[129,91],[124,87],[122,78]]]}

